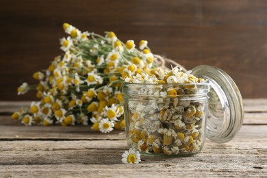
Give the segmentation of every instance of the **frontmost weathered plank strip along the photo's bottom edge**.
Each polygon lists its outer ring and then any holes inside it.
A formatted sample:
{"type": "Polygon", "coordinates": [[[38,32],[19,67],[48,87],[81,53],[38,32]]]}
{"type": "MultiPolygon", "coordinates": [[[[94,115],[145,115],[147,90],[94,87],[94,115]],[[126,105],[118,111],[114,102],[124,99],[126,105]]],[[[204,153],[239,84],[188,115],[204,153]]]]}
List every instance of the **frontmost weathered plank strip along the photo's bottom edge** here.
{"type": "MultiPolygon", "coordinates": [[[[236,157],[235,157],[236,158],[236,157]]],[[[177,158],[177,160],[179,160],[177,158]]],[[[218,160],[220,162],[220,160],[218,160]]],[[[194,163],[193,160],[170,164],[59,164],[0,166],[3,177],[266,177],[266,168],[259,164],[238,165],[194,163]],[[184,164],[183,164],[184,162],[184,164]],[[232,166],[232,167],[231,167],[232,166]]]]}

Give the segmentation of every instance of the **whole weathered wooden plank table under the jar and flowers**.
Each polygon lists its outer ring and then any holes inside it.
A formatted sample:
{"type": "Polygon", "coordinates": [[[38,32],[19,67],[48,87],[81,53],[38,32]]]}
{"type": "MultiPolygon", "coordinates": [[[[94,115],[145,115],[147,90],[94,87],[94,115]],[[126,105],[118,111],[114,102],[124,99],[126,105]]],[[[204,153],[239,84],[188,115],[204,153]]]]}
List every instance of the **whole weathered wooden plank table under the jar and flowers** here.
{"type": "Polygon", "coordinates": [[[90,127],[25,127],[0,102],[0,177],[267,177],[267,99],[244,100],[244,125],[225,144],[206,140],[191,157],[142,157],[122,164],[125,133],[90,127]]]}

